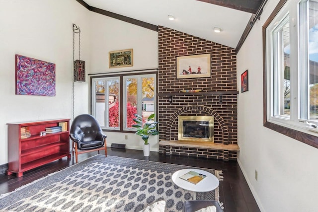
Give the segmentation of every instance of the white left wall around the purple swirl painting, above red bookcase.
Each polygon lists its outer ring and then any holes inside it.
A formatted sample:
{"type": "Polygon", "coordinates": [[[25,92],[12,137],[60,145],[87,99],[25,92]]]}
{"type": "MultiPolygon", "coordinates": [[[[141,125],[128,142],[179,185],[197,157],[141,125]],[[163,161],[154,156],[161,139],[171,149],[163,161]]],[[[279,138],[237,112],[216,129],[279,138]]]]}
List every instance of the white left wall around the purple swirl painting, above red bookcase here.
{"type": "MultiPolygon", "coordinates": [[[[0,0],[0,5],[0,164],[5,164],[7,123],[72,118],[72,24],[82,29],[81,60],[89,67],[90,22],[89,11],[76,0],[0,0]],[[56,65],[56,96],[15,95],[15,54],[56,65]]],[[[87,96],[88,83],[76,83],[75,115],[88,112],[87,96]]]]}

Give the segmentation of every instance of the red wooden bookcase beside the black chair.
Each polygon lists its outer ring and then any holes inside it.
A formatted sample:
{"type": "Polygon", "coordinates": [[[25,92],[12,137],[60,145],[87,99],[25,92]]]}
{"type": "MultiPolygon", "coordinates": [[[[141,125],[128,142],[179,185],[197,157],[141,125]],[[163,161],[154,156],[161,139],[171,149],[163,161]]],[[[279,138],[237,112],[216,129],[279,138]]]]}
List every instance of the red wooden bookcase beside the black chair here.
{"type": "Polygon", "coordinates": [[[69,139],[70,119],[55,119],[34,122],[8,124],[8,161],[7,175],[16,173],[21,177],[23,172],[51,161],[71,157],[69,139]],[[56,127],[64,123],[66,131],[40,136],[47,127],[56,127]],[[21,138],[21,129],[29,130],[29,138],[21,138]]]}

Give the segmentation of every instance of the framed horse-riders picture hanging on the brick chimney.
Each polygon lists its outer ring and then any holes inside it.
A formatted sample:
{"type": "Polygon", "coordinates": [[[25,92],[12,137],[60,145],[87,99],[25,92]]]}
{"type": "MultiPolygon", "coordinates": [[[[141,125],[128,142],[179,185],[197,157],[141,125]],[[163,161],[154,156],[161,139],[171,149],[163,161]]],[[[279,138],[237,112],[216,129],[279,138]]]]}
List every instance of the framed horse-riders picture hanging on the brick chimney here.
{"type": "Polygon", "coordinates": [[[176,57],[176,78],[211,77],[211,54],[176,57]]]}

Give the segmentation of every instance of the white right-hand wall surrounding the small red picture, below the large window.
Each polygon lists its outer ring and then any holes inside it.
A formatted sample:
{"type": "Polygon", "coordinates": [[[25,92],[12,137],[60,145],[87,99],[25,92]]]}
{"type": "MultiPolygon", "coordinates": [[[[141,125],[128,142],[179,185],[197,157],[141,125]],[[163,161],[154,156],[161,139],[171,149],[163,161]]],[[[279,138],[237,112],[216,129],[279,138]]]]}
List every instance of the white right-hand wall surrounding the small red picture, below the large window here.
{"type": "Polygon", "coordinates": [[[277,5],[269,0],[237,55],[239,165],[263,212],[317,212],[318,149],[263,127],[262,26],[277,5]],[[255,180],[255,170],[258,180],[255,180]]]}

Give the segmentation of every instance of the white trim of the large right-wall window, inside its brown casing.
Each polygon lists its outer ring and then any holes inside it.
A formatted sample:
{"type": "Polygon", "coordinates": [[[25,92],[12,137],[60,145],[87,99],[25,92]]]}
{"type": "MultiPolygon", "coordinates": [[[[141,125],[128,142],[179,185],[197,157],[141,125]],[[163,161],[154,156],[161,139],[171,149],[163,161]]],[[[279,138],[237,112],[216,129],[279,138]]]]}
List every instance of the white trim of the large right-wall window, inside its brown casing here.
{"type": "MultiPolygon", "coordinates": [[[[271,23],[266,27],[266,119],[267,122],[289,128],[292,130],[300,131],[309,135],[318,136],[318,129],[310,127],[306,124],[307,120],[301,119],[298,114],[300,114],[300,104],[304,101],[309,101],[308,99],[300,100],[298,98],[300,92],[300,81],[299,77],[302,77],[300,73],[298,73],[299,68],[301,67],[300,59],[298,57],[298,48],[300,48],[302,42],[298,39],[301,33],[301,30],[298,30],[298,14],[300,12],[298,3],[299,0],[288,0],[284,6],[280,9],[280,11],[276,14],[276,16],[271,20],[271,23]],[[274,116],[274,106],[273,106],[273,95],[274,90],[272,88],[274,84],[273,80],[273,39],[272,32],[275,29],[276,25],[282,20],[287,14],[289,14],[290,21],[290,43],[291,43],[291,60],[290,60],[290,68],[291,68],[291,83],[295,83],[297,86],[291,86],[291,96],[290,101],[291,112],[290,112],[290,120],[286,119],[284,116],[275,117],[274,116]],[[297,36],[295,36],[297,35],[297,36]],[[296,60],[294,60],[296,58],[296,60]],[[298,70],[292,70],[298,69],[298,70]],[[295,104],[296,101],[296,104],[295,104]]],[[[302,53],[300,53],[301,55],[302,53]]],[[[304,54],[303,54],[304,55],[304,54]]],[[[304,60],[304,59],[303,59],[304,60]]],[[[307,62],[306,62],[307,63],[307,62]]],[[[303,89],[304,90],[304,89],[303,89]]],[[[308,112],[307,112],[308,113],[308,112]]],[[[312,123],[313,121],[311,121],[312,123]]],[[[318,124],[318,123],[315,123],[318,124]]]]}

